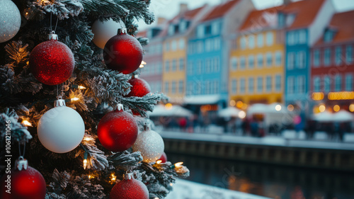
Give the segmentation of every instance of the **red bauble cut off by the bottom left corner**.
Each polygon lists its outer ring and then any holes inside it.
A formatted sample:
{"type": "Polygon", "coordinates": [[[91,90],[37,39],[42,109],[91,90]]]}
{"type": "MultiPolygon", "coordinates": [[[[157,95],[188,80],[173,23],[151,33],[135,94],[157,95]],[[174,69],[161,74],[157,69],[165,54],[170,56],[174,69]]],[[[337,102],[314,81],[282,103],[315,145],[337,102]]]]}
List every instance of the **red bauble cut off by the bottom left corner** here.
{"type": "MultiPolygon", "coordinates": [[[[25,161],[27,164],[27,160],[20,161],[25,161]]],[[[4,176],[1,178],[0,186],[1,199],[45,198],[45,179],[39,171],[27,165],[23,166],[23,168],[21,165],[21,167],[12,169],[11,174],[4,174],[4,176]],[[21,169],[21,171],[19,169],[21,169]],[[11,183],[8,183],[8,176],[11,176],[11,183]],[[11,188],[11,193],[6,192],[8,188],[11,188]]]]}

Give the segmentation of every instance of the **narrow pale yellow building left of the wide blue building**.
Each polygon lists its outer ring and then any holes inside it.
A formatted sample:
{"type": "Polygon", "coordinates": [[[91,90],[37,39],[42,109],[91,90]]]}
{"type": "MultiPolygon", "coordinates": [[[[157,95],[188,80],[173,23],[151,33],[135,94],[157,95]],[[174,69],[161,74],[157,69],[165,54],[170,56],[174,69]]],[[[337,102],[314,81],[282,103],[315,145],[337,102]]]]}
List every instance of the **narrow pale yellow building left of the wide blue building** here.
{"type": "Polygon", "coordinates": [[[162,87],[171,103],[183,103],[185,96],[185,59],[187,35],[195,21],[205,11],[206,6],[188,11],[186,4],[181,4],[180,13],[169,21],[166,30],[163,52],[162,87]]]}

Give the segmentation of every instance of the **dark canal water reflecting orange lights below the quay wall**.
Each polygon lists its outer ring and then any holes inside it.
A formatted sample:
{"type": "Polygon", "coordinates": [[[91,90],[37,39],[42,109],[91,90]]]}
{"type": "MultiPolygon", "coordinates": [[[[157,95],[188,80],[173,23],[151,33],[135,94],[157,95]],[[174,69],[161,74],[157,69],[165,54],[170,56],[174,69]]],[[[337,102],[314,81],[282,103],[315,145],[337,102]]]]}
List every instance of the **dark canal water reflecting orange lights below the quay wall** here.
{"type": "MultiPolygon", "coordinates": [[[[354,199],[354,174],[341,171],[274,166],[181,154],[189,181],[276,199],[354,199]]],[[[202,198],[200,198],[202,199],[202,198]]]]}

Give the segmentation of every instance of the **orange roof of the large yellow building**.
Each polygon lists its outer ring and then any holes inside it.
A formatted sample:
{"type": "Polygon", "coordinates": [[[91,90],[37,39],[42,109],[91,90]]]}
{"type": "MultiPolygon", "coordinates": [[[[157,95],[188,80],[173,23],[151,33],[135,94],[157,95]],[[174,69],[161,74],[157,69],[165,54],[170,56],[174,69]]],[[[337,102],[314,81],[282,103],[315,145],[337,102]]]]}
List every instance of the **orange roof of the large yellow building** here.
{"type": "MultiPolygon", "coordinates": [[[[244,23],[241,25],[240,30],[256,30],[260,28],[267,28],[272,26],[272,23],[276,23],[275,14],[278,13],[281,6],[266,8],[260,11],[254,10],[249,13],[244,23]]],[[[276,25],[276,24],[274,24],[276,25]]]]}

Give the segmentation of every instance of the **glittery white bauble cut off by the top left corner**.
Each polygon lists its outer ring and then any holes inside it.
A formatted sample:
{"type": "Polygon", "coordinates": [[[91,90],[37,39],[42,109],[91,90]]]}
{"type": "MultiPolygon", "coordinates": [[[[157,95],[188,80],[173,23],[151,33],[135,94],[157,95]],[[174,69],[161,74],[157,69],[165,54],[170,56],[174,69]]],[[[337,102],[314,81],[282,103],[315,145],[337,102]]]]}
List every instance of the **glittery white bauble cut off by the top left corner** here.
{"type": "Polygon", "coordinates": [[[11,0],[0,1],[0,42],[13,38],[21,26],[21,14],[11,0]]]}

